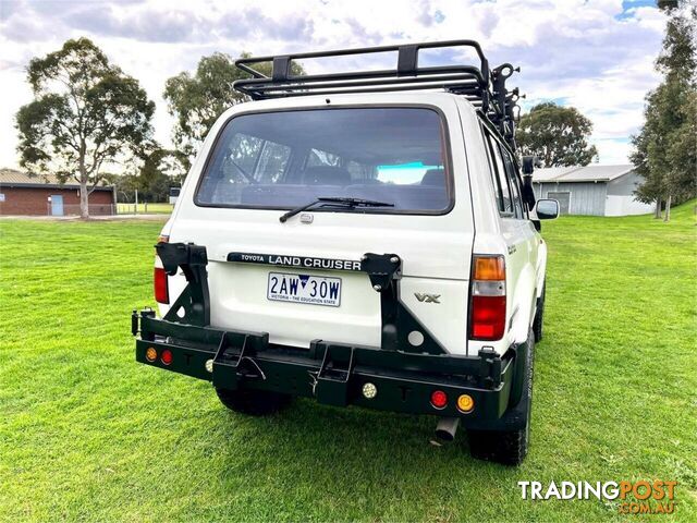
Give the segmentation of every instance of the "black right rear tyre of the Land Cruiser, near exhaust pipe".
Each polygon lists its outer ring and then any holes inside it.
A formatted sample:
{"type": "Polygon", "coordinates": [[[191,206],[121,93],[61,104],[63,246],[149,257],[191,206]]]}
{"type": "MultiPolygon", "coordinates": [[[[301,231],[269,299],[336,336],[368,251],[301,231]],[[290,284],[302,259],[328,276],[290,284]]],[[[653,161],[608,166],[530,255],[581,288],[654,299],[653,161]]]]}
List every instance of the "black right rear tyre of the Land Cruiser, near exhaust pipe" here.
{"type": "Polygon", "coordinates": [[[533,404],[533,367],[535,360],[535,335],[527,340],[527,364],[523,394],[516,406],[501,419],[502,425],[514,426],[511,430],[467,430],[469,453],[473,458],[493,461],[503,465],[519,465],[527,455],[530,441],[530,410],[533,404]]]}

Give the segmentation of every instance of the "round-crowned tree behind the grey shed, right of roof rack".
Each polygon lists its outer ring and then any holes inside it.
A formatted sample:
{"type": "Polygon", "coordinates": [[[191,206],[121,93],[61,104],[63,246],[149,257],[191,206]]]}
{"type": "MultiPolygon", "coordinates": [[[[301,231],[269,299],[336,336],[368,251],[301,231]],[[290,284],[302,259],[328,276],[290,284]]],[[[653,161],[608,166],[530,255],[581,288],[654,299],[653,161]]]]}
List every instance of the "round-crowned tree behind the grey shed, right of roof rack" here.
{"type": "Polygon", "coordinates": [[[588,145],[592,122],[573,107],[547,101],[523,114],[515,134],[523,155],[536,155],[543,167],[587,166],[598,156],[588,145]]]}

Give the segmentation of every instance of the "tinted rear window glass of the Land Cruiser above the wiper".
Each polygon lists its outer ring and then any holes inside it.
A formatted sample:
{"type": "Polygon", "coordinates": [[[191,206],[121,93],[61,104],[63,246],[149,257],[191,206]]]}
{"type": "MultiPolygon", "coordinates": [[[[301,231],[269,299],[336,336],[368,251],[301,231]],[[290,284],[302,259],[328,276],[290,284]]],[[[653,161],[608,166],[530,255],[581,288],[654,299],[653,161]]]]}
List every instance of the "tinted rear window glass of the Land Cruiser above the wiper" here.
{"type": "Polygon", "coordinates": [[[393,204],[370,212],[443,211],[451,203],[443,136],[440,115],[425,108],[239,115],[216,143],[196,203],[290,209],[352,197],[393,204]]]}

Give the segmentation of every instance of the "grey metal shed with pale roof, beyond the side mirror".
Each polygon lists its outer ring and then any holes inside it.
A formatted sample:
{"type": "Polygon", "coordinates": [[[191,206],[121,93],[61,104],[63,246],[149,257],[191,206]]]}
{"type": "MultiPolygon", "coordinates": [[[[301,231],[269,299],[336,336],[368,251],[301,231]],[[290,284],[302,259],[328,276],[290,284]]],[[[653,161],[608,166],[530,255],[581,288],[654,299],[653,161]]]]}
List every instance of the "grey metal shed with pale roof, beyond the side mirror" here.
{"type": "Polygon", "coordinates": [[[634,196],[634,166],[551,167],[533,173],[535,196],[559,200],[563,215],[627,216],[653,211],[634,196]]]}

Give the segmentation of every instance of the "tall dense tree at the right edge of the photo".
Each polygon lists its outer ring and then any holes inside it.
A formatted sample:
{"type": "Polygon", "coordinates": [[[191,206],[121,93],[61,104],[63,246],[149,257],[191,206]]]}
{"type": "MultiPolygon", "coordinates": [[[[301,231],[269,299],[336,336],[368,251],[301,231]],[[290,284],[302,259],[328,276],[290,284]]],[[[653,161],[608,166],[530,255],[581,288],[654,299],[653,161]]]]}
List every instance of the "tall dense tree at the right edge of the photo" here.
{"type": "Polygon", "coordinates": [[[644,178],[637,198],[656,202],[657,218],[665,202],[665,221],[673,203],[697,195],[697,8],[680,9],[675,3],[664,8],[670,19],[656,60],[663,82],[646,97],[645,123],[632,137],[629,156],[644,178]]]}

